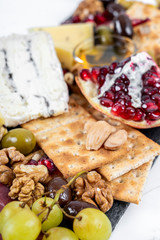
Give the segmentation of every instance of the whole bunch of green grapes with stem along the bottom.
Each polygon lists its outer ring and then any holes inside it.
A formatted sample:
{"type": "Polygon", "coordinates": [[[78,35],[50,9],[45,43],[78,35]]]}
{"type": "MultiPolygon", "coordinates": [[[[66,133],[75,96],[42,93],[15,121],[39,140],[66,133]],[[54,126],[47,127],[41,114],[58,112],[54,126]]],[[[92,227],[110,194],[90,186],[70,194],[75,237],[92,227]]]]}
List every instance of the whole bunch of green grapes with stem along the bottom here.
{"type": "MultiPolygon", "coordinates": [[[[72,184],[73,178],[66,186],[72,184]]],[[[96,208],[84,208],[70,216],[73,231],[60,227],[63,214],[69,217],[59,204],[60,195],[65,191],[60,188],[54,199],[41,197],[31,209],[20,201],[8,203],[0,212],[0,234],[3,240],[36,240],[43,233],[42,240],[108,240],[112,226],[108,217],[96,208]]],[[[38,238],[39,239],[39,238],[38,238]]]]}

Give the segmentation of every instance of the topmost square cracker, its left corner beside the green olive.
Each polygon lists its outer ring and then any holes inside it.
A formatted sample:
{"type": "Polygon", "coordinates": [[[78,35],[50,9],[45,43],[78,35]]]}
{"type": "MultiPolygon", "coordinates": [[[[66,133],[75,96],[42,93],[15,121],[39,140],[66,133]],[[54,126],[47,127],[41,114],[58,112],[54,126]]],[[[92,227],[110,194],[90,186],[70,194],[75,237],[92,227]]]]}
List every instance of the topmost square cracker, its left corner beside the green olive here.
{"type": "Polygon", "coordinates": [[[94,121],[87,111],[71,100],[69,112],[57,117],[33,120],[22,126],[35,134],[39,146],[64,177],[68,178],[114,160],[112,152],[104,148],[98,151],[86,150],[84,125],[90,119],[94,121]]]}

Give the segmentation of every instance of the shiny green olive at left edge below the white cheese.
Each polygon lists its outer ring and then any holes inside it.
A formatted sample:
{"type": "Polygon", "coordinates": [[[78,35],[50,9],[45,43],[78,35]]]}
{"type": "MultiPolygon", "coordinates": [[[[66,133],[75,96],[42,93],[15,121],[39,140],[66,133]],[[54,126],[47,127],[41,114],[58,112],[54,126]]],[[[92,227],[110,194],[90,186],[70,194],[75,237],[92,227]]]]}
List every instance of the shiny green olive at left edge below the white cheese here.
{"type": "Polygon", "coordinates": [[[31,131],[24,128],[10,130],[1,141],[2,148],[15,147],[24,155],[31,153],[35,145],[35,136],[31,131]]]}

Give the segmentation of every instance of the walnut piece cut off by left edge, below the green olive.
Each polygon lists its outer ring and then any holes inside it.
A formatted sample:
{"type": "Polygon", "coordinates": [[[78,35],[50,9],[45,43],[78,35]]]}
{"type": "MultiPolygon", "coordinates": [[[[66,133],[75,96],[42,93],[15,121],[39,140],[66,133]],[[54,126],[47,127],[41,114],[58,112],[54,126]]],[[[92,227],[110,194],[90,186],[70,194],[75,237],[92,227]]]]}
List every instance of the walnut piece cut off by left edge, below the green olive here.
{"type": "Polygon", "coordinates": [[[13,171],[5,165],[0,165],[0,183],[11,185],[13,178],[13,171]]]}

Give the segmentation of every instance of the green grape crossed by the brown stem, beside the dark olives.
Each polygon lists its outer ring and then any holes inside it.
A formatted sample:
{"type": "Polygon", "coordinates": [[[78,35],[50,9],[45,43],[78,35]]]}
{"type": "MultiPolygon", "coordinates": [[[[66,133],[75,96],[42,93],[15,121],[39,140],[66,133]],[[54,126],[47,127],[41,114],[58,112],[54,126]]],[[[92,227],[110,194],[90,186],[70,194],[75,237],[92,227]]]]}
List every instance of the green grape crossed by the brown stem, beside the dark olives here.
{"type": "MultiPolygon", "coordinates": [[[[33,203],[32,211],[36,215],[41,213],[38,216],[41,222],[47,216],[48,209],[46,207],[51,206],[52,203],[54,203],[54,201],[52,198],[49,197],[39,198],[33,203]]],[[[62,219],[63,213],[61,209],[57,205],[54,205],[47,219],[42,223],[42,231],[47,231],[52,227],[57,227],[62,222],[62,219]]]]}

